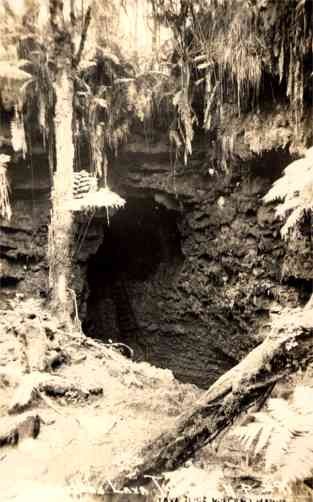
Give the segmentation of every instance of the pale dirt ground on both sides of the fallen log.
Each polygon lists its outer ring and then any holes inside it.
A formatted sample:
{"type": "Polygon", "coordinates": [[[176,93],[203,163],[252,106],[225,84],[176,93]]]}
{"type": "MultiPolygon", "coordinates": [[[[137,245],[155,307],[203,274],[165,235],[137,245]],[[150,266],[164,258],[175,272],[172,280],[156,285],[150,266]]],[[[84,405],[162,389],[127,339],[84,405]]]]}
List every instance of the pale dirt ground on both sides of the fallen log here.
{"type": "MultiPolygon", "coordinates": [[[[112,490],[110,481],[203,392],[65,327],[38,302],[14,300],[0,314],[1,502],[99,500],[95,492],[112,490]],[[39,433],[21,426],[27,417],[39,433]]],[[[231,432],[164,473],[164,496],[269,496],[260,464],[231,432]]]]}

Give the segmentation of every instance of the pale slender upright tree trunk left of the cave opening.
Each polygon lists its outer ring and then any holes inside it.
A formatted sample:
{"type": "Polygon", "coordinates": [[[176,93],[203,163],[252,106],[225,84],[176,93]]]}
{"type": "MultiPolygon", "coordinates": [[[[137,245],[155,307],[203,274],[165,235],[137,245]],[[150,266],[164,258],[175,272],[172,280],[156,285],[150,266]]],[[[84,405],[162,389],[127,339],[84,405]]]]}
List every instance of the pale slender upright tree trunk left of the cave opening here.
{"type": "Polygon", "coordinates": [[[52,190],[52,210],[49,227],[49,286],[52,307],[68,320],[73,305],[70,297],[71,247],[73,216],[70,200],[73,196],[73,42],[64,19],[62,0],[49,0],[52,51],[54,62],[54,135],[55,165],[52,190]]]}

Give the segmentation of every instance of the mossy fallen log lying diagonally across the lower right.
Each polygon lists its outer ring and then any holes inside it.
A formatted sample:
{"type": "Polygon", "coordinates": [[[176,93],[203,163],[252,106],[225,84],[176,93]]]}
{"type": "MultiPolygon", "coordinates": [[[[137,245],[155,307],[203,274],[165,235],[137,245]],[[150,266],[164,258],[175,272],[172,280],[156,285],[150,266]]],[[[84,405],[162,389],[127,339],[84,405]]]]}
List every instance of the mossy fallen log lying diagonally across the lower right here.
{"type": "MultiPolygon", "coordinates": [[[[191,458],[253,405],[275,383],[313,361],[312,310],[290,310],[272,322],[269,336],[219,378],[178,417],[172,428],[148,443],[130,469],[111,480],[117,488],[142,485],[191,458]]],[[[160,404],[161,405],[161,404],[160,404]]]]}

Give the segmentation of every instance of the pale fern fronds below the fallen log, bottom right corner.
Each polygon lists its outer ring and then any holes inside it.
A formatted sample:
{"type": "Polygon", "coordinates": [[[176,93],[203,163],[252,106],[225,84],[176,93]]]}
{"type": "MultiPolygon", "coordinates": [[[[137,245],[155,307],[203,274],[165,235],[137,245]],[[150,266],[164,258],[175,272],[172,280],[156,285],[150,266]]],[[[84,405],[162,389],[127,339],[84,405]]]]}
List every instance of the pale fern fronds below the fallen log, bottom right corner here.
{"type": "Polygon", "coordinates": [[[253,455],[265,452],[265,469],[283,485],[313,472],[313,389],[298,385],[292,401],[270,399],[267,412],[239,427],[236,435],[253,455]]]}

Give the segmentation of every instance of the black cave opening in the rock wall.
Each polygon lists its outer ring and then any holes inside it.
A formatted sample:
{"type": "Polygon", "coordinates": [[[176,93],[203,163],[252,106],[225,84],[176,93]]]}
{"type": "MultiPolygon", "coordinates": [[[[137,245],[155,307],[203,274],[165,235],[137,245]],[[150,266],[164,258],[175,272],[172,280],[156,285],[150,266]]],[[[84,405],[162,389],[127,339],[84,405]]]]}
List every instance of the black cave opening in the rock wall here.
{"type": "Polygon", "coordinates": [[[172,275],[183,261],[180,217],[155,198],[131,198],[104,224],[103,242],[88,263],[87,335],[124,343],[135,359],[148,359],[140,304],[151,278],[161,268],[172,275]]]}

